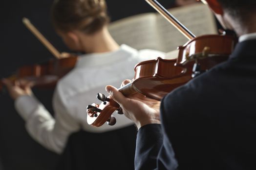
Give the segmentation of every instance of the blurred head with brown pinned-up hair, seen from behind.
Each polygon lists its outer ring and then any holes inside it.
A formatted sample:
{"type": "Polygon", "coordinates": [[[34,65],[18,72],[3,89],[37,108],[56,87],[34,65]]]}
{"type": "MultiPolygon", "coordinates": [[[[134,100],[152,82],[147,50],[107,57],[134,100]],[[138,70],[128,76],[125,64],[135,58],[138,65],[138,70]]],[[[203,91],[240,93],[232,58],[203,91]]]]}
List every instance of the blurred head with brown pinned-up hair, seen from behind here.
{"type": "Polygon", "coordinates": [[[56,30],[94,34],[109,21],[105,0],[54,0],[51,11],[56,30]]]}

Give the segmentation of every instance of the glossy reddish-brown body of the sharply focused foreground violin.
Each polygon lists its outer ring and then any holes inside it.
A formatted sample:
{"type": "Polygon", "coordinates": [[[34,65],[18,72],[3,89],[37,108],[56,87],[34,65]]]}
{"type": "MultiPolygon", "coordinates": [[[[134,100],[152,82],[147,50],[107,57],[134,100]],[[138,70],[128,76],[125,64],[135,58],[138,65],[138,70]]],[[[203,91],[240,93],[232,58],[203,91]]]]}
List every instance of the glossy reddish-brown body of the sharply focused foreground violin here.
{"type": "Polygon", "coordinates": [[[177,60],[157,58],[135,66],[133,86],[139,93],[160,101],[166,94],[192,79],[195,62],[201,70],[209,70],[226,61],[234,50],[232,35],[203,35],[178,47],[177,60]]]}

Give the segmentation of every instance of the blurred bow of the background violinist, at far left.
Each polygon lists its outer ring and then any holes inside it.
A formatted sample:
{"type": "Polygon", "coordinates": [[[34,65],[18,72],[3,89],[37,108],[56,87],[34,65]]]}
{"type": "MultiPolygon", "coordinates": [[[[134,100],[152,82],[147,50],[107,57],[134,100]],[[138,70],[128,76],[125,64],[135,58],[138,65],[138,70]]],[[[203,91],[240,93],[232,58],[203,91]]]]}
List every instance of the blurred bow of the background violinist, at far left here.
{"type": "Polygon", "coordinates": [[[61,58],[61,53],[53,47],[53,45],[41,34],[38,29],[29,21],[28,18],[23,17],[22,18],[23,24],[28,28],[28,30],[31,31],[32,34],[34,34],[39,41],[58,59],[61,58]]]}

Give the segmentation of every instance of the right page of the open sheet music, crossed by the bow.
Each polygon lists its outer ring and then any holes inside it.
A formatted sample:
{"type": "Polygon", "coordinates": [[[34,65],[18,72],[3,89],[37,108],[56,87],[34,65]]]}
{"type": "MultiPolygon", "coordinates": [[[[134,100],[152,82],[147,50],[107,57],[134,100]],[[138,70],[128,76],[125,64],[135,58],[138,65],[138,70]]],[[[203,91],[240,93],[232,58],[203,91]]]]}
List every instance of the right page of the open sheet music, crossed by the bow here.
{"type": "MultiPolygon", "coordinates": [[[[204,4],[198,3],[187,7],[169,9],[169,12],[183,23],[196,36],[217,34],[213,13],[204,4]]],[[[161,50],[171,51],[184,45],[188,39],[175,29],[162,16],[157,16],[158,37],[161,39],[161,50]]],[[[160,47],[159,47],[160,48],[160,47]]]]}

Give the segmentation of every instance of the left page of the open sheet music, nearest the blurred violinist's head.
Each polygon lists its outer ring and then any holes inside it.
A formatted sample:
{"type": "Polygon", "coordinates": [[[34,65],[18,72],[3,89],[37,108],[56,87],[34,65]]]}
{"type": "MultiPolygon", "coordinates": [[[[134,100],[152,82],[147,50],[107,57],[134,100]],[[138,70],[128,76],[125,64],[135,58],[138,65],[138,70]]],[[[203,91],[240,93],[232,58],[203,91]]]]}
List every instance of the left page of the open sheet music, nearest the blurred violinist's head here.
{"type": "Polygon", "coordinates": [[[156,16],[146,13],[121,19],[108,27],[118,44],[127,44],[135,49],[154,49],[159,47],[159,37],[155,33],[156,16]]]}

